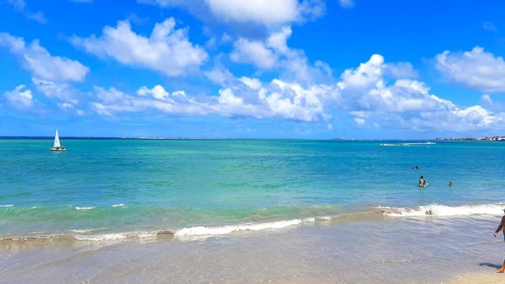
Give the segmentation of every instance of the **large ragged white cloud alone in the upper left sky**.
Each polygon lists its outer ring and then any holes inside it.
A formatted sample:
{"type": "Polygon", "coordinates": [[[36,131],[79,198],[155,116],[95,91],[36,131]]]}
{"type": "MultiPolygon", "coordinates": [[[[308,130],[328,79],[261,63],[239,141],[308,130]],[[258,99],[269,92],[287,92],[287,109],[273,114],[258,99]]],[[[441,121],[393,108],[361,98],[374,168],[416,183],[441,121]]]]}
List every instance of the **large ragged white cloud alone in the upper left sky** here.
{"type": "Polygon", "coordinates": [[[204,49],[189,41],[187,29],[175,29],[174,18],[157,23],[149,37],[132,31],[128,21],[119,21],[117,27],[104,27],[98,37],[74,36],[72,42],[99,57],[153,69],[167,76],[185,75],[208,58],[204,49]]]}

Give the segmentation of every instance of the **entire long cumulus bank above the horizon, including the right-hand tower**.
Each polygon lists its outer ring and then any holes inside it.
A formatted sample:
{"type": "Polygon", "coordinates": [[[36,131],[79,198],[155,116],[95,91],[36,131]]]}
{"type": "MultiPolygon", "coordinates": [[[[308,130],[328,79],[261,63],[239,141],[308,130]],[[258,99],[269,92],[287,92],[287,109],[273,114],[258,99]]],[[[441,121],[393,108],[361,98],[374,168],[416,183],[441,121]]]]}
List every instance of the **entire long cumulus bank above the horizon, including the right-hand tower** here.
{"type": "Polygon", "coordinates": [[[279,78],[269,82],[237,78],[216,64],[207,73],[221,85],[213,96],[169,91],[162,85],[142,86],[133,95],[96,87],[92,106],[98,114],[108,116],[154,109],[171,115],[319,121],[328,129],[339,113],[346,113],[359,127],[468,131],[505,126],[505,113],[479,105],[459,107],[430,93],[422,81],[388,82],[384,75],[388,66],[381,55],[372,55],[367,62],[345,70],[336,83],[300,84],[279,78]]]}

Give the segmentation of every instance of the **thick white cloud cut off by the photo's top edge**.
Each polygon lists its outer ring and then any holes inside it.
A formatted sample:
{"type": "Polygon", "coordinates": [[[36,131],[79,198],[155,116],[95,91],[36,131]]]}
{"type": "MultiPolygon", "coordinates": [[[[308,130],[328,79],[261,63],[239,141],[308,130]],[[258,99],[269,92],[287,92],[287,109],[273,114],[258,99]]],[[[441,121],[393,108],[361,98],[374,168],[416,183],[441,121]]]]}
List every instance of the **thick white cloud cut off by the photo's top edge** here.
{"type": "Polygon", "coordinates": [[[300,22],[324,14],[325,4],[320,0],[138,0],[170,8],[182,6],[200,16],[211,14],[221,22],[255,23],[266,26],[300,22]]]}

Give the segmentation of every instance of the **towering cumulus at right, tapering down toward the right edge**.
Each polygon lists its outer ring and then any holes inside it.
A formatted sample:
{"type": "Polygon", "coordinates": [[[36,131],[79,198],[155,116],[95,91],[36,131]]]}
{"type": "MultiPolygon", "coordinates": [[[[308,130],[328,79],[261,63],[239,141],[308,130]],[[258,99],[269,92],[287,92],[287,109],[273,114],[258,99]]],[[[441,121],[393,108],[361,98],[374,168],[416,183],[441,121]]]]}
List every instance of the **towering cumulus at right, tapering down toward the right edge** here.
{"type": "Polygon", "coordinates": [[[397,79],[393,84],[387,84],[382,75],[386,68],[383,57],[373,55],[358,68],[342,73],[337,83],[342,105],[357,124],[364,124],[364,118],[368,117],[381,122],[382,126],[418,131],[462,131],[504,126],[504,113],[493,113],[478,105],[459,108],[430,94],[424,82],[397,79]]]}

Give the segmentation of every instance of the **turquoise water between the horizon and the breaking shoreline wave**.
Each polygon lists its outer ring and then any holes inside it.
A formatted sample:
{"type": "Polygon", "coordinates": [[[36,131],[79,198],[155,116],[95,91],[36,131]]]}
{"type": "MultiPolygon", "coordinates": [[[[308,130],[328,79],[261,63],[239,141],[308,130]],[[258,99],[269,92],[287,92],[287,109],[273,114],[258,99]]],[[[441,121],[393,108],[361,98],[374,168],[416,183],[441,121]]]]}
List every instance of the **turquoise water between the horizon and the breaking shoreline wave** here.
{"type": "Polygon", "coordinates": [[[68,151],[48,151],[48,139],[0,140],[0,235],[176,230],[377,206],[505,202],[500,142],[61,142],[68,151]],[[426,188],[417,185],[420,175],[426,188]]]}

